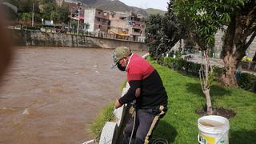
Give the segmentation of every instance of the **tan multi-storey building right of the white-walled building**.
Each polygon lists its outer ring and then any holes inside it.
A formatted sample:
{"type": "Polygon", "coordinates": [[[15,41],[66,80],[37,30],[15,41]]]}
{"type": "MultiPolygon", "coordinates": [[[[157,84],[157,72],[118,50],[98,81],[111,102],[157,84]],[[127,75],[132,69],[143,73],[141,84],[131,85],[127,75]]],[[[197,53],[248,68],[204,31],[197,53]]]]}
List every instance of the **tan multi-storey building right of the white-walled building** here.
{"type": "Polygon", "coordinates": [[[136,41],[138,41],[140,38],[145,38],[146,25],[140,14],[116,11],[111,11],[109,13],[109,33],[118,34],[123,37],[130,37],[136,41]]]}

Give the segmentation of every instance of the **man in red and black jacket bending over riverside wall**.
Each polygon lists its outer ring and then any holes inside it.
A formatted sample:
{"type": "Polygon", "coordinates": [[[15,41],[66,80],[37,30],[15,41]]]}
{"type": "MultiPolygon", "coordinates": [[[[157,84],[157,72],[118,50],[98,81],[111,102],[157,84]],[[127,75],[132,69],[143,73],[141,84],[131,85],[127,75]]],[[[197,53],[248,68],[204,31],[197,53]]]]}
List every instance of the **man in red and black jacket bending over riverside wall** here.
{"type": "MultiPolygon", "coordinates": [[[[136,120],[134,126],[135,143],[148,143],[159,118],[166,114],[167,94],[158,71],[144,58],[133,54],[126,46],[119,46],[113,54],[114,66],[126,71],[130,89],[119,98],[114,106],[135,103],[136,120]]],[[[134,118],[126,123],[123,143],[130,141],[134,118]]]]}

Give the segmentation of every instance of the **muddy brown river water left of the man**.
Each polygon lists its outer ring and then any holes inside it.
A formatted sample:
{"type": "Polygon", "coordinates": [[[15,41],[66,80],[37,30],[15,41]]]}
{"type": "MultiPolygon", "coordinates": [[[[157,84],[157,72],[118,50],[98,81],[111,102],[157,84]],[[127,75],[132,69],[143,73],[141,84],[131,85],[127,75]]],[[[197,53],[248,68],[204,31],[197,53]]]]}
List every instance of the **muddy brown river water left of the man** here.
{"type": "MultiPolygon", "coordinates": [[[[126,74],[107,49],[22,47],[0,87],[0,143],[82,143],[126,74]]],[[[146,52],[136,52],[145,54],[146,52]]]]}

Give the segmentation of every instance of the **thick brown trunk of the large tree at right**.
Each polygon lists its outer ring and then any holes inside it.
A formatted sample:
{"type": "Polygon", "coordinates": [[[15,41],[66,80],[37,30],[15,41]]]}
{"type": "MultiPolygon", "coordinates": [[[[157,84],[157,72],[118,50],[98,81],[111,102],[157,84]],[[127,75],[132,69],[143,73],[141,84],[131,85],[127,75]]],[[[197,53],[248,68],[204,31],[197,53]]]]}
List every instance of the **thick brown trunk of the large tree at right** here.
{"type": "Polygon", "coordinates": [[[256,36],[256,1],[237,0],[230,6],[230,22],[223,23],[227,26],[223,39],[222,54],[225,64],[225,73],[222,82],[225,86],[238,86],[235,72],[238,63],[246,55],[246,50],[256,36]]]}

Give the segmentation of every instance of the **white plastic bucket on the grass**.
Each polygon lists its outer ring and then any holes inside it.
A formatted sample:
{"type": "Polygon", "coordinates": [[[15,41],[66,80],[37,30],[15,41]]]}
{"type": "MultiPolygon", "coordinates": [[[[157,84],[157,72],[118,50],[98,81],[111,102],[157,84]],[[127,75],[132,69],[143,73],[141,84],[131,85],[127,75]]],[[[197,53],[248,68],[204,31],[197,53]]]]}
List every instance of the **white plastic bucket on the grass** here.
{"type": "Polygon", "coordinates": [[[218,116],[208,115],[198,119],[198,142],[200,144],[228,144],[230,130],[229,120],[218,116]]]}

